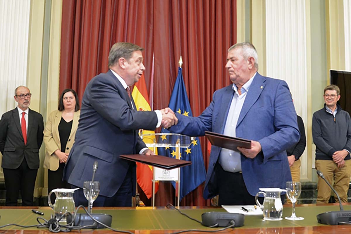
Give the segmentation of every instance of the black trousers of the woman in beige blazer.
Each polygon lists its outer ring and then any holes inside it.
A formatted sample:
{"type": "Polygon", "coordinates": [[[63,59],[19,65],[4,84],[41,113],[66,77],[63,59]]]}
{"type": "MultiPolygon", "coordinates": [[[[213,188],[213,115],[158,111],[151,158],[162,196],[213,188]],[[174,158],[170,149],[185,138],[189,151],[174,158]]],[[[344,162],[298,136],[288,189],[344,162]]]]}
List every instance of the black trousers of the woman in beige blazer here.
{"type": "MultiPolygon", "coordinates": [[[[65,168],[66,163],[60,163],[59,168],[55,171],[52,170],[47,170],[47,187],[48,187],[48,193],[50,193],[51,190],[57,189],[57,188],[71,188],[67,181],[62,181],[62,176],[64,174],[64,168],[65,168]]],[[[51,194],[51,202],[54,204],[55,203],[55,193],[51,194]]]]}

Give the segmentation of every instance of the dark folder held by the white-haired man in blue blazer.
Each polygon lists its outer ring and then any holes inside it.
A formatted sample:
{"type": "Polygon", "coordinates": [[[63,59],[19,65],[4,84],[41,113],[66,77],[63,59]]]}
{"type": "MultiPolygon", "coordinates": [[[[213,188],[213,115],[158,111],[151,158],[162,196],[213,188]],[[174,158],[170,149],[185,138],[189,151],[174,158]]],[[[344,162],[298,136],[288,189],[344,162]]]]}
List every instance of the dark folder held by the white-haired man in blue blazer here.
{"type": "Polygon", "coordinates": [[[205,136],[212,145],[229,150],[238,150],[237,147],[250,149],[251,141],[243,138],[225,136],[216,132],[205,131],[205,136]]]}

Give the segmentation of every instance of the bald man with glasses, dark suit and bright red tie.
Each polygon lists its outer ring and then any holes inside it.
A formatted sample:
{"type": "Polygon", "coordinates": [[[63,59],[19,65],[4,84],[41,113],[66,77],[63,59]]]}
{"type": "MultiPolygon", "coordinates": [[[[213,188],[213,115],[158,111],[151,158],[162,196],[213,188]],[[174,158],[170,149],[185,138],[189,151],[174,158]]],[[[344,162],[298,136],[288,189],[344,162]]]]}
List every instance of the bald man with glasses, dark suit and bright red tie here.
{"type": "Polygon", "coordinates": [[[31,96],[27,87],[17,87],[14,99],[18,106],[4,113],[0,120],[0,151],[6,186],[6,206],[17,206],[19,191],[22,206],[33,206],[44,122],[40,113],[29,109],[31,96]]]}

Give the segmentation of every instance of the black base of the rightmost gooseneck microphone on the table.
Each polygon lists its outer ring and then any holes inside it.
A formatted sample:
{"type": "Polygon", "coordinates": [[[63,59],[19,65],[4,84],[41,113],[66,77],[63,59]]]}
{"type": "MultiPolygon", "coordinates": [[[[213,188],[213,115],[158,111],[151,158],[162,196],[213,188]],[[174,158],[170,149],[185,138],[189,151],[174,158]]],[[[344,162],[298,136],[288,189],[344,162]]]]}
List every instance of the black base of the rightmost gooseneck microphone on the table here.
{"type": "Polygon", "coordinates": [[[351,210],[325,212],[317,215],[317,221],[326,225],[339,225],[339,222],[351,224],[351,210]]]}

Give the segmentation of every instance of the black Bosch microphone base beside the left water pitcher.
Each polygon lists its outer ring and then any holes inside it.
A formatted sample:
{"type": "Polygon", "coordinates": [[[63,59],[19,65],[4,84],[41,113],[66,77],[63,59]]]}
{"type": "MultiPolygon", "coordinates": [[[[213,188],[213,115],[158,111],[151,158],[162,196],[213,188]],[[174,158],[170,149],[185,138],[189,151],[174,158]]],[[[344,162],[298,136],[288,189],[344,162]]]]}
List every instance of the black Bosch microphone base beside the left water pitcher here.
{"type": "MultiPolygon", "coordinates": [[[[111,227],[112,224],[112,216],[108,214],[90,214],[94,219],[104,223],[106,226],[111,227]]],[[[72,221],[71,216],[67,216],[67,223],[72,221]]],[[[74,226],[87,226],[93,225],[94,227],[86,227],[92,229],[100,229],[106,228],[105,226],[101,225],[100,223],[95,222],[91,219],[88,214],[77,214],[74,219],[74,226]]]]}

